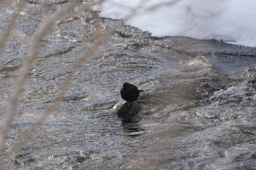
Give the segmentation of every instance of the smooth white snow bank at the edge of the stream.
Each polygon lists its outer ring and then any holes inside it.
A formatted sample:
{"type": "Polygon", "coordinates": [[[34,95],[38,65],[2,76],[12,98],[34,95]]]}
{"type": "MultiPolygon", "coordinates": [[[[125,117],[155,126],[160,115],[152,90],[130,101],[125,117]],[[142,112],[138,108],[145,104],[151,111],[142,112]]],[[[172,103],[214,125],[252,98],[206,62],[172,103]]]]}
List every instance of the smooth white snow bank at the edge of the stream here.
{"type": "Polygon", "coordinates": [[[106,0],[94,10],[152,36],[189,36],[256,47],[255,0],[106,0]]]}

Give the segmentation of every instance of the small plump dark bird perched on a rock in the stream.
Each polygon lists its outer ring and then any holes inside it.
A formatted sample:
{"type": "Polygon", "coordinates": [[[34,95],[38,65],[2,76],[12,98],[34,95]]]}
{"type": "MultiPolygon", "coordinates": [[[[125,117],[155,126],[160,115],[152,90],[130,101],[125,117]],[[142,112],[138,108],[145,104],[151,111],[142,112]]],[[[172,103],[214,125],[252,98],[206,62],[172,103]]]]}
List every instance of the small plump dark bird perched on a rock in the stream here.
{"type": "Polygon", "coordinates": [[[124,82],[123,87],[120,90],[121,98],[125,101],[132,103],[132,101],[136,101],[140,96],[140,92],[143,90],[138,90],[136,85],[129,84],[128,82],[124,82]]]}

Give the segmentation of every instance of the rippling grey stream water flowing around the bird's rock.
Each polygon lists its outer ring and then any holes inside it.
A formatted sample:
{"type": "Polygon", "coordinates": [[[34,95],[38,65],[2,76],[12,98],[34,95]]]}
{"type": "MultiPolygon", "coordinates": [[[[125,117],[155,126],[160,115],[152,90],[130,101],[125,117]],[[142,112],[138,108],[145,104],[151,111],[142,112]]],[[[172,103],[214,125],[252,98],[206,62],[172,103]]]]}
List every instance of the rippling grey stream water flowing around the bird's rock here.
{"type": "MultiPolygon", "coordinates": [[[[27,3],[17,29],[31,36],[43,15],[61,5],[27,3]]],[[[10,9],[1,11],[1,29],[10,9]]],[[[91,45],[93,23],[93,15],[84,13],[45,37],[4,153],[54,104],[91,45]]],[[[102,20],[106,28],[112,23],[102,20]]],[[[27,50],[19,36],[2,50],[1,110],[27,50]]],[[[256,169],[255,52],[184,37],[155,39],[124,26],[83,64],[61,107],[6,169],[256,169]],[[129,118],[118,116],[123,82],[145,91],[129,118]]]]}

